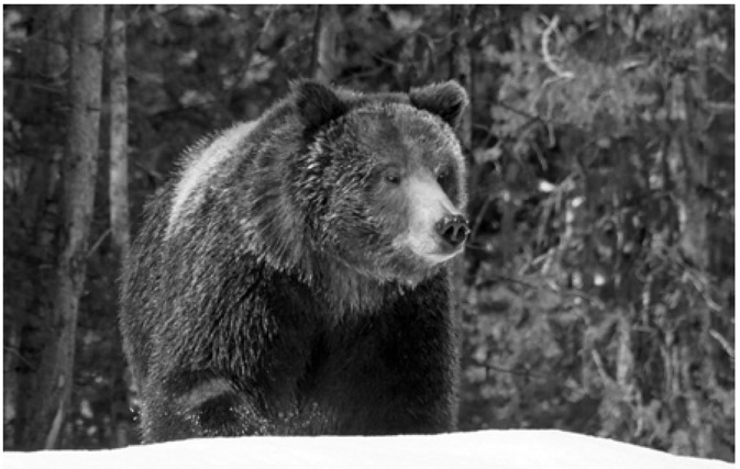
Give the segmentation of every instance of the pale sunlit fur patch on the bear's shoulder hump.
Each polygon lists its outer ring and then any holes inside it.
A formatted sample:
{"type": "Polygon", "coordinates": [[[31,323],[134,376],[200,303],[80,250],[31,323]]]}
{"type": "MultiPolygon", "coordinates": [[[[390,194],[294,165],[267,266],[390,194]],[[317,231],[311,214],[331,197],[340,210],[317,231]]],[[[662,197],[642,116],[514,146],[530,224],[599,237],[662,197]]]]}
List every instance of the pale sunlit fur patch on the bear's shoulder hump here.
{"type": "Polygon", "coordinates": [[[202,200],[200,189],[218,174],[223,161],[235,156],[233,150],[236,145],[254,130],[257,121],[236,124],[223,132],[206,148],[195,155],[189,155],[173,192],[173,205],[165,238],[175,235],[181,226],[180,221],[198,208],[202,200]]]}

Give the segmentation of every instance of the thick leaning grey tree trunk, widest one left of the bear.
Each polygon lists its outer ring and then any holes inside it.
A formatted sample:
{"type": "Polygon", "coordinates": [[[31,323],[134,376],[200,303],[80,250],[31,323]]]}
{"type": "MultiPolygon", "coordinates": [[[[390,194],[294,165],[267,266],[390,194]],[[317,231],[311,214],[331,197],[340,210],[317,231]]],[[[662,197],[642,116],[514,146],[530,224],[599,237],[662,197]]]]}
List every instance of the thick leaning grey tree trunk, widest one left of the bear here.
{"type": "Polygon", "coordinates": [[[47,319],[49,336],[32,398],[34,415],[26,428],[26,442],[32,448],[58,446],[71,394],[75,332],[98,168],[103,13],[102,5],[80,5],[74,9],[71,18],[70,114],[62,168],[64,216],[51,292],[54,310],[47,319]]]}

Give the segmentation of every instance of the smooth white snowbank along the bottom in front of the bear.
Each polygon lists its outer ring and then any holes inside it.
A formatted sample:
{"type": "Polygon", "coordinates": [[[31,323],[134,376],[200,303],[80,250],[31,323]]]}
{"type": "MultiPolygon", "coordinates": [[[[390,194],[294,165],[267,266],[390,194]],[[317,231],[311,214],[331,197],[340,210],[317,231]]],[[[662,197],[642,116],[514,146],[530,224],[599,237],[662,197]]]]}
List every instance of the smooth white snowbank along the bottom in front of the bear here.
{"type": "Polygon", "coordinates": [[[729,469],[733,465],[559,431],[486,431],[395,437],[210,438],[97,451],[3,453],[2,467],[729,469]]]}

